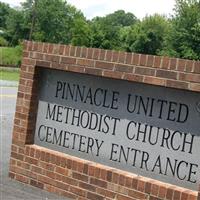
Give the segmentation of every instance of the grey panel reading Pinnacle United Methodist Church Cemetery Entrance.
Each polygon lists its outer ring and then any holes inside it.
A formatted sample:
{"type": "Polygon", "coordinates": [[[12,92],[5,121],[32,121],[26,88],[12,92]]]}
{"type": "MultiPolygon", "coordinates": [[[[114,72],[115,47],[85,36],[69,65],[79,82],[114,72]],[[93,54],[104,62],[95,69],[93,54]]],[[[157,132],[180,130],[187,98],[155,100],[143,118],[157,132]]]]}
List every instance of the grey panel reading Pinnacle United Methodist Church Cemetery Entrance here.
{"type": "Polygon", "coordinates": [[[197,190],[199,93],[41,70],[35,144],[197,190]]]}

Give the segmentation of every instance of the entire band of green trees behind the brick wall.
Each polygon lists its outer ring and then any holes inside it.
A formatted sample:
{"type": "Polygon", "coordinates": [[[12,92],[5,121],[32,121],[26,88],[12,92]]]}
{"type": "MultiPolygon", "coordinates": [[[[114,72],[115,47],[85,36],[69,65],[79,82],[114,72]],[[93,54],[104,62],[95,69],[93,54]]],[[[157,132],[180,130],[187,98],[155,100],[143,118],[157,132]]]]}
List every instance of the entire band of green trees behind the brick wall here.
{"type": "Polygon", "coordinates": [[[0,2],[1,37],[200,59],[200,1],[176,0],[170,18],[155,14],[139,20],[115,11],[86,20],[65,0],[26,0],[13,9],[0,2]]]}

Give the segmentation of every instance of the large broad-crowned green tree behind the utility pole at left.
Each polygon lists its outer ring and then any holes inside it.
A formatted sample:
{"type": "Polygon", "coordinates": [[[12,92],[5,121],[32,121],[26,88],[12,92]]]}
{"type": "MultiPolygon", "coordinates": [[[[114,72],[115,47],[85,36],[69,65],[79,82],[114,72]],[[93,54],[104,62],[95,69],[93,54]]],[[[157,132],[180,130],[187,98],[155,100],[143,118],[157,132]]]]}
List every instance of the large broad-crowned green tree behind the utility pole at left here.
{"type": "Polygon", "coordinates": [[[31,36],[36,41],[87,46],[88,29],[83,14],[64,0],[27,0],[7,20],[12,44],[31,36]]]}

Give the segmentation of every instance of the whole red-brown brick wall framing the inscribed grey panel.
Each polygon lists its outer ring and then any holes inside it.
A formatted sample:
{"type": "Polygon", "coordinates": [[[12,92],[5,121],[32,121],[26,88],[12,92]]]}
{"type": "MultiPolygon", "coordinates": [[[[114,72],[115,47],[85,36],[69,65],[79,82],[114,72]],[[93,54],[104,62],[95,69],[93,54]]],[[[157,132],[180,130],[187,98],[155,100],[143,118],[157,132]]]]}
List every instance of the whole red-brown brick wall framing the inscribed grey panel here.
{"type": "Polygon", "coordinates": [[[200,92],[200,62],[24,42],[9,176],[73,199],[199,200],[200,194],[33,144],[40,68],[200,92]]]}

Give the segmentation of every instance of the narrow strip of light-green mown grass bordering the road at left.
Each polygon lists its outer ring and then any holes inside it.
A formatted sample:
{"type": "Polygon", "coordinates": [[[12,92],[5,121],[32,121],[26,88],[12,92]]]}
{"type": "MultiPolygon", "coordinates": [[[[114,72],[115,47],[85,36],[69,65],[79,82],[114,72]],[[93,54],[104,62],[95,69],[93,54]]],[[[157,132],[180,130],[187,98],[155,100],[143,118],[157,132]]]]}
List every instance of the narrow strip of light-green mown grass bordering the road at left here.
{"type": "Polygon", "coordinates": [[[0,80],[19,81],[19,70],[2,70],[0,68],[0,80]]]}

